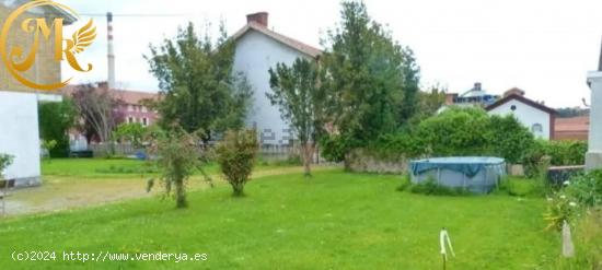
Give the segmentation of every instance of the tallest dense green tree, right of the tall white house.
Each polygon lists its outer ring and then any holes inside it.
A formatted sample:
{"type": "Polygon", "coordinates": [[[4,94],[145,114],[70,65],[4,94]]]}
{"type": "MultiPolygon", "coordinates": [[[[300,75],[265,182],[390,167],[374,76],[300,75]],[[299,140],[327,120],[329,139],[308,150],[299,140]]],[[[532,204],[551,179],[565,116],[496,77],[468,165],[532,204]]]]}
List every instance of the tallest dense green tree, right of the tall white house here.
{"type": "Polygon", "coordinates": [[[322,62],[335,125],[356,146],[395,131],[416,111],[419,69],[413,51],[372,21],[362,2],[345,1],[322,62]]]}

